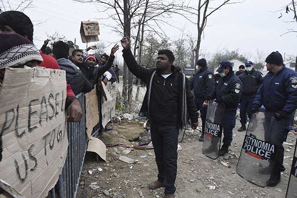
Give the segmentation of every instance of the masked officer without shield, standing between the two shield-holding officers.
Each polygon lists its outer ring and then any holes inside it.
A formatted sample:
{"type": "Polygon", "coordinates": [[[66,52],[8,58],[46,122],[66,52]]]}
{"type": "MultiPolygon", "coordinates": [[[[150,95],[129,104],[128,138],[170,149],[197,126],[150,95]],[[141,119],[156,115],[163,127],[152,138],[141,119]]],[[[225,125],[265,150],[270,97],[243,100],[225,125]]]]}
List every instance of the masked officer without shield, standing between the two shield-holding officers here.
{"type": "Polygon", "coordinates": [[[239,75],[243,84],[242,98],[240,102],[240,122],[242,124],[238,131],[246,131],[247,116],[251,118],[251,109],[255,95],[263,82],[261,72],[254,70],[251,61],[246,62],[246,70],[239,75]]]}

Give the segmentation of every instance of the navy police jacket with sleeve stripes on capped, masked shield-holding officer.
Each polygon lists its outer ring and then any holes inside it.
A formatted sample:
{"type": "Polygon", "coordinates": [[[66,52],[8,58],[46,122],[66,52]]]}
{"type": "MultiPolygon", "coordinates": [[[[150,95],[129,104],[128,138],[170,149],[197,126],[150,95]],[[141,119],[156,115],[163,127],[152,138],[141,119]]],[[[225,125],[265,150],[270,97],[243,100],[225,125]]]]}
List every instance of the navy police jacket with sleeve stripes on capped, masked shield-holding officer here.
{"type": "Polygon", "coordinates": [[[237,110],[242,92],[242,83],[234,71],[229,71],[225,77],[221,77],[215,84],[213,99],[222,100],[226,110],[237,110]]]}

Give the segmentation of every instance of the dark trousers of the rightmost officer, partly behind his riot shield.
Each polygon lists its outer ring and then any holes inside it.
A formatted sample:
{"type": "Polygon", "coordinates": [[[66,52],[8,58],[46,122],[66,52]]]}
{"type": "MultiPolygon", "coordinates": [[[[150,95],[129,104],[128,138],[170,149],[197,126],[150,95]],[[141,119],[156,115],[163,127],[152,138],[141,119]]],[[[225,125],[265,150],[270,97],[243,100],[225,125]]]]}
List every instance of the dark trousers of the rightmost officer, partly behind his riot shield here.
{"type": "Polygon", "coordinates": [[[265,142],[269,142],[278,146],[278,153],[276,156],[276,164],[273,172],[283,172],[286,170],[283,165],[284,162],[284,147],[283,143],[287,140],[289,133],[288,126],[290,125],[292,115],[289,119],[282,119],[277,121],[273,118],[273,113],[265,113],[264,121],[264,137],[265,142]],[[272,123],[273,122],[273,123],[272,123]]]}

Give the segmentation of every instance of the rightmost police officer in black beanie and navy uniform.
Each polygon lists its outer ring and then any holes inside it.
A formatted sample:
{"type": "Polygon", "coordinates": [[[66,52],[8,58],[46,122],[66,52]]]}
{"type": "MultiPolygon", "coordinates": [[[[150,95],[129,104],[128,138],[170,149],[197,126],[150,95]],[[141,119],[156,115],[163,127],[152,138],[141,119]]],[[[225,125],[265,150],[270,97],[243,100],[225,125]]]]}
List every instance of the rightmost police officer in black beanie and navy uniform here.
{"type": "Polygon", "coordinates": [[[280,127],[283,127],[277,132],[273,130],[265,132],[265,136],[266,133],[269,136],[269,138],[265,137],[265,140],[269,139],[269,142],[279,146],[276,164],[268,183],[268,186],[276,186],[281,181],[281,172],[285,171],[283,143],[290,130],[293,112],[297,108],[297,72],[284,65],[283,57],[278,51],[269,54],[265,62],[269,72],[263,78],[263,84],[257,91],[252,113],[257,112],[263,104],[265,120],[278,122],[280,127]]]}

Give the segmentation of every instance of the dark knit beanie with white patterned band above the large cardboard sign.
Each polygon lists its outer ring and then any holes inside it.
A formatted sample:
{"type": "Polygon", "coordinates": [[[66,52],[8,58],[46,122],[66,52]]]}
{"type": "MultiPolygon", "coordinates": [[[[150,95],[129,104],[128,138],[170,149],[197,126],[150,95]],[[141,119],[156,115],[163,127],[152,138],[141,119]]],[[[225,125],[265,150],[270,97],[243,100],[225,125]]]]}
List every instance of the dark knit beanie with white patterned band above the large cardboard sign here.
{"type": "Polygon", "coordinates": [[[36,46],[19,34],[1,32],[0,46],[0,69],[23,65],[31,60],[43,61],[36,46]]]}

